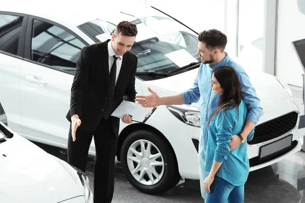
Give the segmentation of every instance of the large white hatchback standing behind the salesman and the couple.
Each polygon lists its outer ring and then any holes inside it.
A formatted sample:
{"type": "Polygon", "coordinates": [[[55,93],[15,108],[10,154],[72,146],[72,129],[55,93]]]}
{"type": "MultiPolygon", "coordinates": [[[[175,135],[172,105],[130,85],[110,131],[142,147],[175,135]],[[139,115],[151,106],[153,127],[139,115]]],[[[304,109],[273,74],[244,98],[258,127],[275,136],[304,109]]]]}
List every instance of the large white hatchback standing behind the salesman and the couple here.
{"type": "MultiPolygon", "coordinates": [[[[122,20],[138,28],[131,49],[138,57],[138,94],[149,94],[150,87],[161,96],[173,95],[192,86],[200,65],[195,31],[147,5],[90,9],[85,4],[56,12],[0,7],[0,103],[8,126],[21,136],[67,148],[65,116],[80,50],[109,39],[122,20]],[[83,11],[90,12],[79,15],[83,11]]],[[[299,151],[303,132],[287,84],[264,73],[249,75],[264,110],[248,142],[253,171],[299,151]]],[[[143,122],[120,124],[117,159],[135,188],[156,194],[181,177],[199,179],[199,114],[198,104],[160,106],[143,122]]],[[[89,154],[95,155],[94,142],[89,154]]]]}

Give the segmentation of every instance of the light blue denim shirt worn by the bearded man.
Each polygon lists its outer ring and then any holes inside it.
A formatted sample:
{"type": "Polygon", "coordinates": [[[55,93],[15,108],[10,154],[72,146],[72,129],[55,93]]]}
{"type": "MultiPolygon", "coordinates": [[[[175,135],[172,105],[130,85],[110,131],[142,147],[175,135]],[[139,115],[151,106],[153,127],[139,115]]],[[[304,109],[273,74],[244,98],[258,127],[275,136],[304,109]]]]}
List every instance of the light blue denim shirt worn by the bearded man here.
{"type": "Polygon", "coordinates": [[[256,95],[256,91],[250,83],[249,77],[245,70],[238,63],[234,62],[226,53],[226,57],[218,64],[212,66],[211,64],[200,64],[198,75],[195,78],[193,87],[181,92],[185,100],[185,104],[197,103],[200,104],[200,126],[201,135],[199,139],[199,148],[206,151],[207,146],[207,122],[210,116],[218,108],[218,100],[220,94],[215,94],[210,86],[212,80],[212,71],[219,66],[232,66],[239,77],[241,83],[242,99],[245,101],[248,114],[247,120],[255,124],[258,123],[259,118],[263,114],[263,109],[260,106],[260,99],[256,95]]]}

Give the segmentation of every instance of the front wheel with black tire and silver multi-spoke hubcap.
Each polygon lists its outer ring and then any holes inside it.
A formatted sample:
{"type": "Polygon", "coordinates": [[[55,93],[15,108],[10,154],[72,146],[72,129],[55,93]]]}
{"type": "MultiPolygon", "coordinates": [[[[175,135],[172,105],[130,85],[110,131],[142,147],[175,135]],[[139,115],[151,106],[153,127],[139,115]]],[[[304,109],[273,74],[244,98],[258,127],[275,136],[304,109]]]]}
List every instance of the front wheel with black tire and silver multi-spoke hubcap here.
{"type": "Polygon", "coordinates": [[[152,131],[131,132],[121,147],[120,160],[131,185],[147,194],[166,192],[181,179],[171,147],[152,131]]]}

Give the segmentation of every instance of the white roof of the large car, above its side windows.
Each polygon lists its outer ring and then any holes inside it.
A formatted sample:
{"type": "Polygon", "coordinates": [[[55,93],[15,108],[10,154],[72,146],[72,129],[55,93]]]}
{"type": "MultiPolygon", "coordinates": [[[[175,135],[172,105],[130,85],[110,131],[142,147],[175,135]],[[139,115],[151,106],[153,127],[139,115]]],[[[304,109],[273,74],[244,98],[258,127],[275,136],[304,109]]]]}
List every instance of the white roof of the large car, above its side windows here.
{"type": "Polygon", "coordinates": [[[149,6],[138,0],[85,0],[81,4],[71,0],[52,0],[44,5],[40,0],[17,0],[2,3],[0,12],[32,15],[63,25],[78,26],[96,18],[102,19],[103,16],[128,10],[140,11],[145,7],[149,6]]]}

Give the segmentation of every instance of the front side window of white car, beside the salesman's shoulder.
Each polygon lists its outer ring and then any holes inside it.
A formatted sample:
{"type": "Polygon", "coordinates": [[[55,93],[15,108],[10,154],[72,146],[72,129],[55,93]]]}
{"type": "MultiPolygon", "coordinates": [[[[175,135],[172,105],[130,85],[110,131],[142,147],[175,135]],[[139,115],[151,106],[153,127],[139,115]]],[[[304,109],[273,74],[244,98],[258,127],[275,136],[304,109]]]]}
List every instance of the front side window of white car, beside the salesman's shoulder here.
{"type": "Polygon", "coordinates": [[[84,46],[63,28],[40,20],[33,21],[31,60],[74,72],[84,46]]]}

